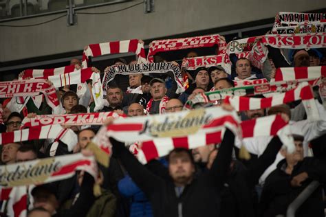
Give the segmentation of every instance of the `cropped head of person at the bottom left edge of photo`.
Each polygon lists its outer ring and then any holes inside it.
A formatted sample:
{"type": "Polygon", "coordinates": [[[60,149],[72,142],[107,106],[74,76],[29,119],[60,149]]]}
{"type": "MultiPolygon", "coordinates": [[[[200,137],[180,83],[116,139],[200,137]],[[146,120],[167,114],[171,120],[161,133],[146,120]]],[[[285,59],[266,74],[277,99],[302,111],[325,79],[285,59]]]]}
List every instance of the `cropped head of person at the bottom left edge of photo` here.
{"type": "Polygon", "coordinates": [[[58,201],[54,194],[50,194],[49,192],[39,192],[39,194],[34,196],[34,207],[43,207],[50,212],[50,214],[54,214],[58,208],[58,201]]]}

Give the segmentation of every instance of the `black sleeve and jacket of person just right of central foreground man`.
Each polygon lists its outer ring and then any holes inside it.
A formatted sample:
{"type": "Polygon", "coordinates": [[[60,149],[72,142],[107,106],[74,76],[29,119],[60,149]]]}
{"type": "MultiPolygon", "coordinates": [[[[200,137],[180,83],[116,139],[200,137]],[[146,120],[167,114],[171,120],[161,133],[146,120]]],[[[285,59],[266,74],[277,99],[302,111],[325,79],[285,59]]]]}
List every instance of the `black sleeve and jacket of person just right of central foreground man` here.
{"type": "Polygon", "coordinates": [[[221,216],[256,216],[258,200],[254,186],[257,185],[263,172],[275,161],[281,146],[279,137],[274,137],[263,155],[248,169],[239,161],[235,161],[224,187],[221,216]]]}

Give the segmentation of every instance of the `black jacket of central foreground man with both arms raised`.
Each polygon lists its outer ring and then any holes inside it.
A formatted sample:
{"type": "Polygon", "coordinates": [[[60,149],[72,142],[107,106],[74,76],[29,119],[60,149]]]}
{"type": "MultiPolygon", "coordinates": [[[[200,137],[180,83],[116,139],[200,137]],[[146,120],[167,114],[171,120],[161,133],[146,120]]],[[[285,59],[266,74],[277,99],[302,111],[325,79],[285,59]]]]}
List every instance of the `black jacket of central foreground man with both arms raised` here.
{"type": "Polygon", "coordinates": [[[151,201],[153,216],[219,216],[220,192],[231,161],[235,136],[226,130],[211,170],[195,177],[178,198],[173,181],[156,176],[124,147],[111,138],[131,178],[151,201]],[[180,215],[181,214],[181,215],[180,215]]]}

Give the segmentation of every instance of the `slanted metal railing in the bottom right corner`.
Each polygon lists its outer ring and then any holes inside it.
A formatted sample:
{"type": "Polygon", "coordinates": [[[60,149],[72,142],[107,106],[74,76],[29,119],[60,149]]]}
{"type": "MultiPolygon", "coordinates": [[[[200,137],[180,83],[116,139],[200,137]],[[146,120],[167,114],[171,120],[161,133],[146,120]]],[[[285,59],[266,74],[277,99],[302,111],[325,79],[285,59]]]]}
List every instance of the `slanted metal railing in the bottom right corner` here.
{"type": "Polygon", "coordinates": [[[309,198],[312,193],[319,187],[318,181],[312,181],[305,189],[294,199],[294,201],[287,207],[286,217],[294,217],[296,210],[300,207],[303,202],[309,198]]]}

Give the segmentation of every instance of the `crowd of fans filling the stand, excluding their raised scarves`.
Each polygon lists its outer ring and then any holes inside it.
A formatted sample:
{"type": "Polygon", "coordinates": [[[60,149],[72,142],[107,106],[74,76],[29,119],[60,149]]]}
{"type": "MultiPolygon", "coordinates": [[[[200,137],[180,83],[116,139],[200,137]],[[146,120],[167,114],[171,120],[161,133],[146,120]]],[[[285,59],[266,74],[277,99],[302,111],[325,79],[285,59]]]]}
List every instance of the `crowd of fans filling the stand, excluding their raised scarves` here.
{"type": "MultiPolygon", "coordinates": [[[[188,78],[189,85],[183,93],[178,93],[171,73],[116,76],[107,86],[106,106],[96,112],[114,112],[123,118],[176,113],[183,111],[186,102],[199,93],[232,89],[235,82],[243,80],[270,81],[279,67],[325,64],[324,49],[292,49],[291,62],[285,60],[281,49],[268,46],[268,51],[266,61],[270,69],[265,71],[253,67],[248,58],[235,55],[230,56],[231,73],[221,65],[204,65],[187,71],[182,69],[181,62],[172,62],[188,78]]],[[[192,49],[178,59],[197,55],[197,49],[192,49]]],[[[157,53],[154,62],[166,60],[157,53]]],[[[133,64],[137,61],[117,58],[108,62],[105,71],[111,66],[133,64]]],[[[71,65],[80,69],[82,62],[74,58],[71,65]]],[[[100,73],[95,67],[92,70],[100,73]]],[[[47,82],[52,84],[50,80],[47,82]]],[[[87,83],[91,90],[91,80],[87,83]]],[[[94,98],[85,101],[78,97],[76,89],[76,85],[66,85],[56,90],[61,114],[94,113],[94,98]]],[[[127,146],[110,137],[109,167],[99,165],[97,179],[82,170],[72,178],[33,187],[28,196],[28,216],[285,216],[289,205],[312,181],[318,181],[319,185],[298,208],[296,216],[325,216],[326,111],[318,87],[314,87],[314,92],[320,115],[314,122],[307,119],[300,100],[238,113],[241,120],[281,115],[292,128],[294,152],[289,152],[277,135],[240,139],[226,129],[221,144],[192,150],[175,148],[169,155],[143,165],[134,156],[141,143],[127,146]]],[[[25,117],[52,115],[52,107],[45,98],[37,105],[29,98],[19,112],[12,111],[12,101],[12,98],[1,99],[1,133],[20,130],[25,117]]],[[[226,111],[233,110],[222,101],[199,107],[221,106],[226,111]]],[[[83,152],[100,129],[95,125],[65,127],[71,128],[78,137],[74,150],[69,151],[67,144],[56,139],[3,144],[1,163],[11,165],[83,152]]],[[[8,215],[10,199],[1,201],[1,216],[8,215]]]]}

